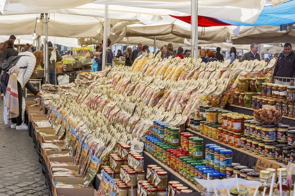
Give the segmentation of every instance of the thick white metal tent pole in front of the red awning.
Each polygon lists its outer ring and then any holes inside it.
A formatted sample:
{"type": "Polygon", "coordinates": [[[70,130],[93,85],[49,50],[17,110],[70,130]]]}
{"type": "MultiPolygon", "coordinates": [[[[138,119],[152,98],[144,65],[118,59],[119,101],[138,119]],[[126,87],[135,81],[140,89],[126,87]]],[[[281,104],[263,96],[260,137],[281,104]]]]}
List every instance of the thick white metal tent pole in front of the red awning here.
{"type": "Polygon", "coordinates": [[[192,55],[198,58],[198,0],[191,0],[192,55]]]}

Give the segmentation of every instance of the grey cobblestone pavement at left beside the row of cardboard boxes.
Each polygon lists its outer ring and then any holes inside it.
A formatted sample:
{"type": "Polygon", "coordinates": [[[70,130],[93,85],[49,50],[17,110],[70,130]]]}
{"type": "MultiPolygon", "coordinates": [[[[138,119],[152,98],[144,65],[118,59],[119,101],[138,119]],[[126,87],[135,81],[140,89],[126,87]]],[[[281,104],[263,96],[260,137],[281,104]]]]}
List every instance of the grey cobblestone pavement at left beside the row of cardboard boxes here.
{"type": "Polygon", "coordinates": [[[42,165],[27,130],[3,123],[0,100],[0,196],[49,196],[42,165]]]}

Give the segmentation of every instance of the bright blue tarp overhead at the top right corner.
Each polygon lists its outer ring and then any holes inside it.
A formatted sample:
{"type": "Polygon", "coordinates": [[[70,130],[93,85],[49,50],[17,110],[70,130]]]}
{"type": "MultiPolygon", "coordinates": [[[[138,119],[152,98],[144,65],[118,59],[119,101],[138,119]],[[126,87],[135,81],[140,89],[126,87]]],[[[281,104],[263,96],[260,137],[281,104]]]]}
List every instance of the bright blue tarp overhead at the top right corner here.
{"type": "Polygon", "coordinates": [[[238,26],[280,26],[295,23],[295,0],[290,0],[274,7],[271,7],[271,5],[264,6],[261,14],[259,15],[257,21],[254,24],[221,19],[219,20],[225,23],[238,26]]]}

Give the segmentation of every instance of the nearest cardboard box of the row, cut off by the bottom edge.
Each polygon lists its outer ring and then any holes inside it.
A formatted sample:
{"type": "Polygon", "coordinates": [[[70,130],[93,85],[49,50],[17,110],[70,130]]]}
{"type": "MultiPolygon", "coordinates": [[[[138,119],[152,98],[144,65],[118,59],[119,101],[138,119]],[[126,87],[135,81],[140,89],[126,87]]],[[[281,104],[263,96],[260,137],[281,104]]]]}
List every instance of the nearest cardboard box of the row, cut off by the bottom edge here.
{"type": "Polygon", "coordinates": [[[96,196],[96,190],[93,188],[78,189],[56,189],[54,196],[96,196]]]}

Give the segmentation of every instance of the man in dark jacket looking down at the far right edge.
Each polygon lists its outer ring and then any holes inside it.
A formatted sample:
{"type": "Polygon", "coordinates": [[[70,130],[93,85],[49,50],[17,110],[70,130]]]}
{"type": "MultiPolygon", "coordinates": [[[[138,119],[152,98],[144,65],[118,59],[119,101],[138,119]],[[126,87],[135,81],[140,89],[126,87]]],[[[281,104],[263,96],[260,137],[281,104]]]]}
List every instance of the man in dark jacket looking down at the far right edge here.
{"type": "MultiPolygon", "coordinates": [[[[279,55],[275,64],[273,76],[295,78],[295,53],[291,44],[284,45],[284,51],[279,55]]],[[[275,83],[294,86],[294,79],[276,78],[275,83]]]]}

